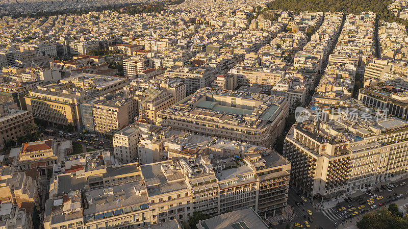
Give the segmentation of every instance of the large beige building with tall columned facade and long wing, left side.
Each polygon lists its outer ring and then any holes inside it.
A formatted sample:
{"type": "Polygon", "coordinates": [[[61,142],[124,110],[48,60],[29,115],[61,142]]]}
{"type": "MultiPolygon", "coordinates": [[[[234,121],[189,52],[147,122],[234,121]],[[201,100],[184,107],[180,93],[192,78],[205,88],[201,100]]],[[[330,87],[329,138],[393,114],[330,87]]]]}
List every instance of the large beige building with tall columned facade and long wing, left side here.
{"type": "Polygon", "coordinates": [[[126,85],[125,79],[106,75],[78,74],[60,84],[50,84],[31,90],[25,95],[27,110],[49,125],[72,125],[81,130],[80,105],[90,97],[114,92],[126,85]]]}

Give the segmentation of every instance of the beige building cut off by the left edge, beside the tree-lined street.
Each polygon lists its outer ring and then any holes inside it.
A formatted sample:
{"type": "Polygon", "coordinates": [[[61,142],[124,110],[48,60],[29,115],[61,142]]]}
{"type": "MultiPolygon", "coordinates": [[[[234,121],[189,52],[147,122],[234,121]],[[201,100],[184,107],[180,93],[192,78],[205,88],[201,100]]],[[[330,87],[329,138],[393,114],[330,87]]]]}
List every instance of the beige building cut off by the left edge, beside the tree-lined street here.
{"type": "Polygon", "coordinates": [[[0,145],[7,140],[17,141],[17,137],[28,134],[27,126],[34,124],[32,113],[17,108],[5,110],[3,107],[4,104],[0,104],[0,145]]]}

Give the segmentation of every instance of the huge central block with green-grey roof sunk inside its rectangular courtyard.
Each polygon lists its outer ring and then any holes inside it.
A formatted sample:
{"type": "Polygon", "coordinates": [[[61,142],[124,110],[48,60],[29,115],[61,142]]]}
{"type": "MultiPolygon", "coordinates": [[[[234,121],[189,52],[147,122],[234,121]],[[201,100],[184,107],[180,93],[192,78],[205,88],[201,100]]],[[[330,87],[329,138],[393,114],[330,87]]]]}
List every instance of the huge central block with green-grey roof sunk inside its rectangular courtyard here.
{"type": "Polygon", "coordinates": [[[273,145],[281,134],[289,104],[284,97],[201,88],[158,114],[172,130],[253,145],[273,145]]]}

